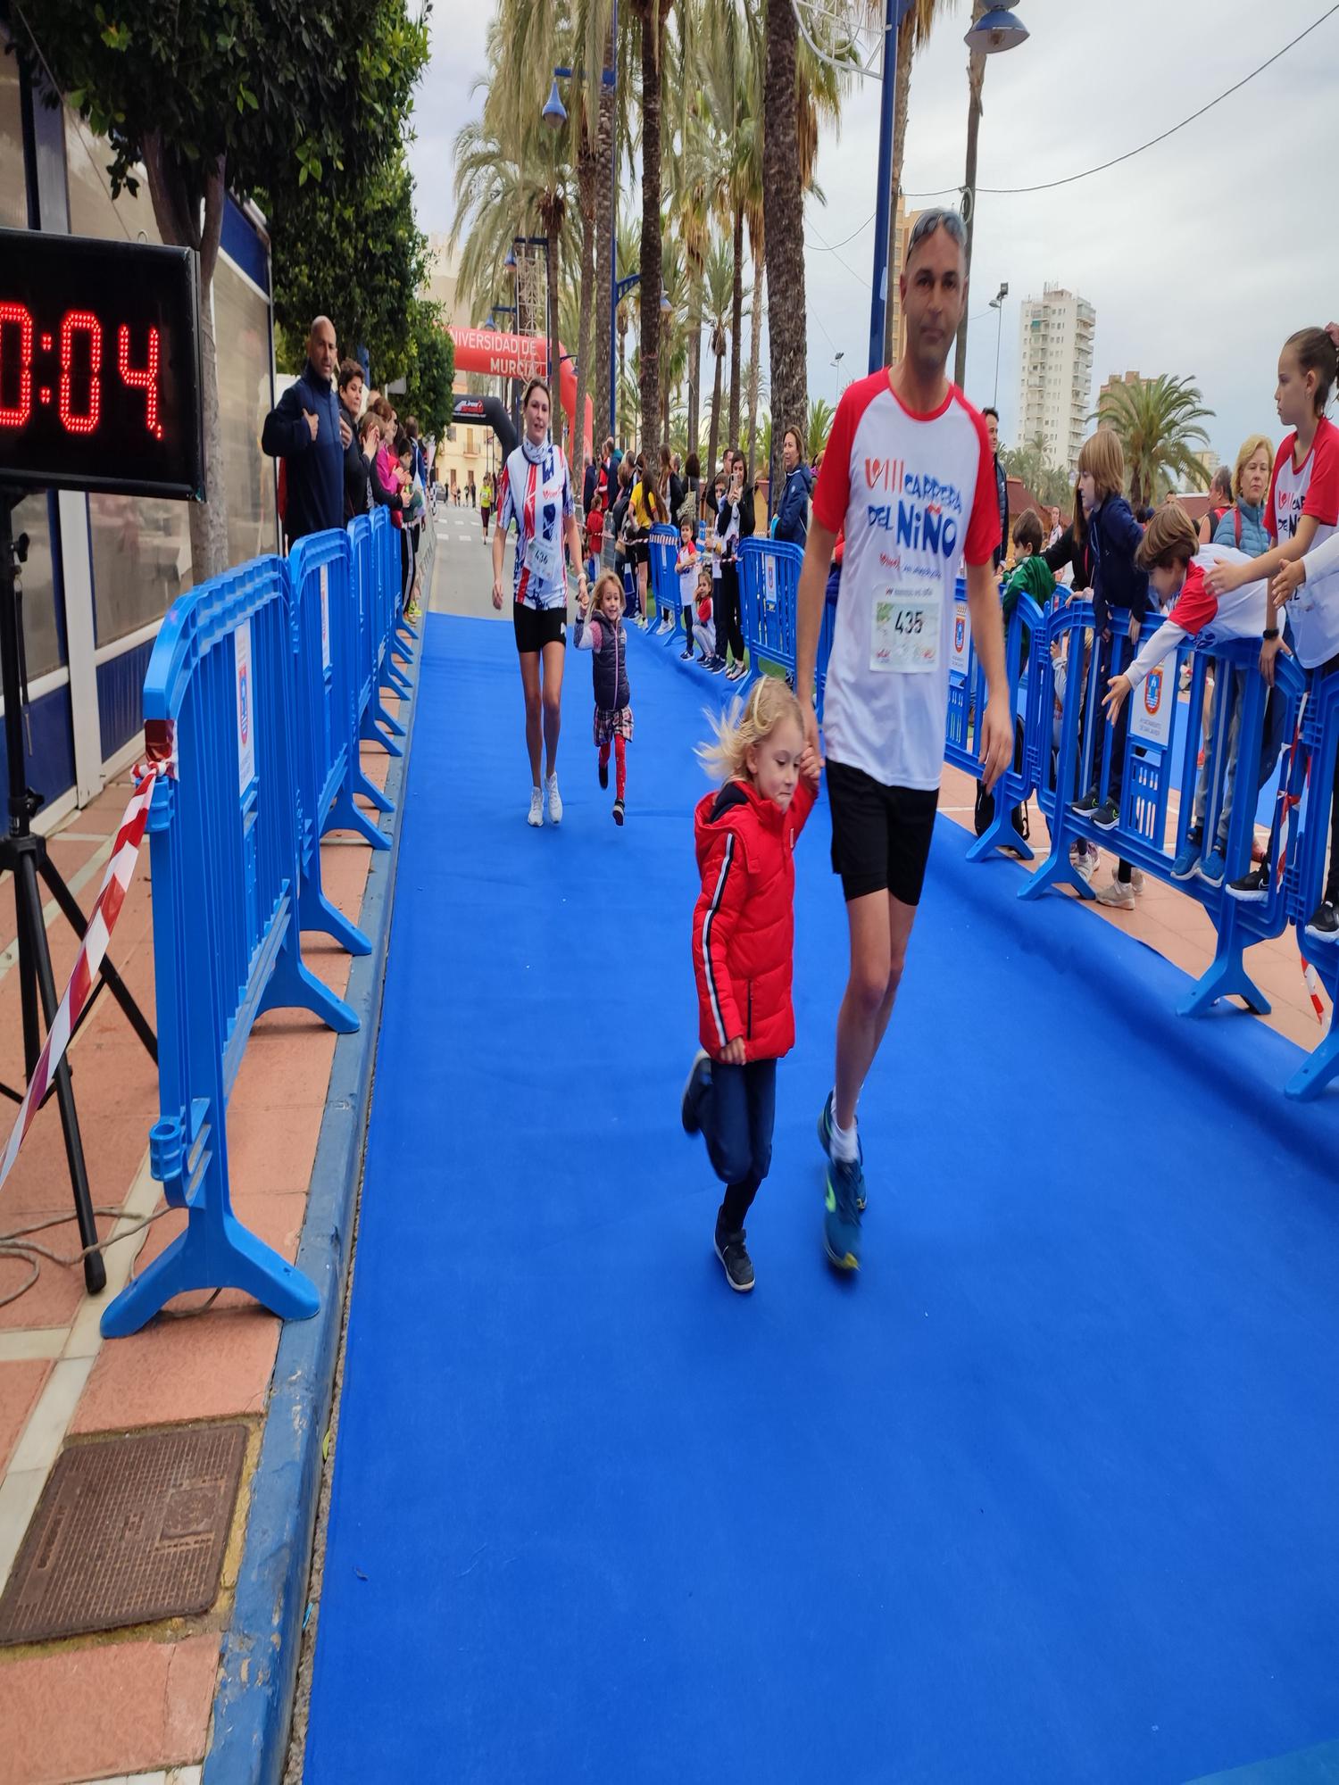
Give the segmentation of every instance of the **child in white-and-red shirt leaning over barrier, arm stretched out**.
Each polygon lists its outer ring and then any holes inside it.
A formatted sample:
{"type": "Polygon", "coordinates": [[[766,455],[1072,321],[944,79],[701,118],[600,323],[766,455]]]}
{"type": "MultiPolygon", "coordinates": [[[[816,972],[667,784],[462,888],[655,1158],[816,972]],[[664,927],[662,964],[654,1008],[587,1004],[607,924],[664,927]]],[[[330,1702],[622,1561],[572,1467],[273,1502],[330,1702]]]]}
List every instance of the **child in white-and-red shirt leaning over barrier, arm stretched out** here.
{"type": "MultiPolygon", "coordinates": [[[[1205,582],[1205,573],[1214,564],[1246,564],[1250,559],[1234,546],[1205,546],[1194,521],[1180,503],[1166,503],[1148,523],[1139,562],[1148,571],[1148,580],[1162,607],[1169,607],[1153,637],[1143,646],[1125,675],[1112,677],[1107,684],[1103,707],[1107,718],[1116,719],[1130,691],[1139,687],[1150,669],[1169,657],[1185,639],[1194,639],[1194,648],[1202,652],[1218,650],[1230,639],[1259,639],[1264,632],[1266,584],[1264,580],[1241,584],[1232,594],[1214,596],[1205,582]]],[[[1214,678],[1214,709],[1209,721],[1209,748],[1194,789],[1194,818],[1185,834],[1185,844],[1171,864],[1173,880],[1189,880],[1200,875],[1209,885],[1221,885],[1227,871],[1227,841],[1232,823],[1232,794],[1237,776],[1237,741],[1241,732],[1241,709],[1246,696],[1246,680],[1255,669],[1237,669],[1235,675],[1219,673],[1214,678]],[[1230,703],[1227,726],[1219,725],[1223,702],[1230,703]],[[1227,760],[1223,764],[1223,798],[1218,812],[1214,844],[1203,850],[1203,821],[1209,805],[1209,793],[1214,784],[1214,750],[1219,732],[1227,760]],[[1203,851],[1203,853],[1202,853],[1203,851]]],[[[1284,703],[1275,689],[1269,689],[1269,702],[1264,714],[1264,732],[1260,737],[1260,759],[1252,787],[1252,801],[1269,780],[1282,746],[1284,703]]],[[[1257,898],[1269,892],[1269,869],[1259,869],[1257,898]]]]}

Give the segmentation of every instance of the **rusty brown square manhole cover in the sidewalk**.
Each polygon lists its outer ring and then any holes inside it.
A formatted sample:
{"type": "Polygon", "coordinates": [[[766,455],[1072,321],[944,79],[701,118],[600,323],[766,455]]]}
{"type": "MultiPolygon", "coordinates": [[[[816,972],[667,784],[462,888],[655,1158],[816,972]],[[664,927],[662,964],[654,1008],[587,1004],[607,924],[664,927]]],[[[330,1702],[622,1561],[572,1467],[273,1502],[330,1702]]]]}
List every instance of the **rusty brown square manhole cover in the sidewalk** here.
{"type": "Polygon", "coordinates": [[[62,1451],[0,1599],[0,1644],[205,1612],[245,1455],[241,1424],[62,1451]]]}

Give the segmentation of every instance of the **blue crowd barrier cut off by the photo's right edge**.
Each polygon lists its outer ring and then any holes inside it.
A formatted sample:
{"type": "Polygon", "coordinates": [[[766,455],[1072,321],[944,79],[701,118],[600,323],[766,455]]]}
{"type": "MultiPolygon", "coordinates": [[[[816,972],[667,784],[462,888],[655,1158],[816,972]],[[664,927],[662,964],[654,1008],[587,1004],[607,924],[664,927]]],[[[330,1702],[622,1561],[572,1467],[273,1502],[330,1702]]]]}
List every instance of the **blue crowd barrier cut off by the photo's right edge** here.
{"type": "MultiPolygon", "coordinates": [[[[1285,659],[1275,659],[1275,675],[1285,659]]],[[[1325,889],[1327,846],[1339,766],[1339,675],[1312,685],[1298,735],[1300,750],[1289,760],[1285,798],[1300,818],[1296,844],[1289,839],[1285,887],[1289,921],[1296,926],[1298,950],[1330,994],[1330,1028],[1325,1041],[1284,1087],[1289,1098],[1314,1098],[1339,1076],[1339,939],[1307,935],[1307,919],[1325,889]]],[[[1282,828],[1282,826],[1280,826],[1282,828]]],[[[1332,869],[1339,873],[1339,866],[1332,869]]]]}

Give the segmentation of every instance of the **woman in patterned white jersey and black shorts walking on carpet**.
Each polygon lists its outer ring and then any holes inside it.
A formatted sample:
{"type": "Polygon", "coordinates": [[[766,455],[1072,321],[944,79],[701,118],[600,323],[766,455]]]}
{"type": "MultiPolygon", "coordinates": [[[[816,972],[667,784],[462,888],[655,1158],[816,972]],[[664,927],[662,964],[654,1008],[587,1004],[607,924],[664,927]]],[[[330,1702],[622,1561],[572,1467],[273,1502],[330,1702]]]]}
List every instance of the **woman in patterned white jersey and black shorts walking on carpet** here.
{"type": "MultiPolygon", "coordinates": [[[[582,536],[571,498],[571,477],[562,448],[548,437],[550,396],[543,378],[525,387],[521,444],[509,453],[498,477],[498,525],[493,534],[493,605],[502,609],[502,560],[511,521],[516,521],[512,566],[512,623],[525,689],[525,748],[530,757],[530,825],[562,823],[557,789],[557,744],[562,726],[562,660],[568,648],[568,571],[564,546],[580,566],[582,536]],[[548,775],[539,780],[539,755],[548,775]]],[[[586,594],[586,571],[577,578],[586,594]]]]}

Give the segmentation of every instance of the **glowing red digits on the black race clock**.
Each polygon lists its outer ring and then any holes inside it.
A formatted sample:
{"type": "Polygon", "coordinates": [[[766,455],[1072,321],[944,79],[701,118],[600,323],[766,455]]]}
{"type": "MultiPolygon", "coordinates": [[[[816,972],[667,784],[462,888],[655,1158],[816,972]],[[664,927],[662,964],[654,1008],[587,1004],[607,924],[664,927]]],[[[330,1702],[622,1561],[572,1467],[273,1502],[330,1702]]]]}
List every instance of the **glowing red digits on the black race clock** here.
{"type": "MultiPolygon", "coordinates": [[[[93,434],[102,418],[102,323],[91,311],[66,311],[59,327],[59,384],[55,393],[48,384],[36,386],[36,400],[50,403],[55,394],[57,414],[66,434],[93,434]]],[[[34,403],[34,350],[41,345],[52,352],[55,339],[41,334],[32,312],[23,303],[0,303],[0,428],[27,427],[34,403]],[[4,393],[14,387],[9,355],[18,352],[18,393],[12,405],[4,403],[4,393]]],[[[145,398],[145,428],[154,439],[162,439],[159,421],[159,373],[162,352],[159,330],[150,325],[141,364],[134,364],[130,328],[116,330],[116,371],[121,382],[141,391],[145,398]]]]}

